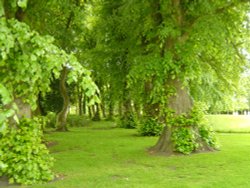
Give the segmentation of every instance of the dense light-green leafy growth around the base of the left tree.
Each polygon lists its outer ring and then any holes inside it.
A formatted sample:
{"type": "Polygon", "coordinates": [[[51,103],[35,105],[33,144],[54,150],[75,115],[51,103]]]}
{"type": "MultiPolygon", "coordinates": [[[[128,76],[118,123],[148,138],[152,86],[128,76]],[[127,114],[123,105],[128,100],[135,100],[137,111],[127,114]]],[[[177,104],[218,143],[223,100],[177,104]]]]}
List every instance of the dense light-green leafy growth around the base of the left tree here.
{"type": "Polygon", "coordinates": [[[42,144],[41,124],[22,119],[17,126],[0,135],[0,176],[24,185],[52,180],[53,158],[42,144]]]}

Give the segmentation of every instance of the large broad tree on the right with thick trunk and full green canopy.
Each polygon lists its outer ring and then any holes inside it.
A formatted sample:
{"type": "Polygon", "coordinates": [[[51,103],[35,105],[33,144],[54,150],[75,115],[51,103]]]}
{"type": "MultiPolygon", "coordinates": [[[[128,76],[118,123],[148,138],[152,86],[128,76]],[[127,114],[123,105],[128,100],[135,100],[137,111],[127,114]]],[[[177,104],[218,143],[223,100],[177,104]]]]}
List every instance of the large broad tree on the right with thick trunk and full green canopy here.
{"type": "MultiPolygon", "coordinates": [[[[107,0],[102,7],[103,24],[96,28],[103,35],[96,48],[104,46],[107,58],[127,52],[123,63],[129,66],[125,76],[129,96],[141,102],[144,117],[167,124],[151,151],[182,152],[173,142],[182,139],[176,136],[178,131],[189,135],[188,142],[191,132],[199,135],[190,141],[189,152],[212,149],[213,144],[204,142],[205,128],[197,125],[200,120],[185,126],[195,119],[193,101],[209,102],[237,86],[246,64],[242,49],[249,32],[244,26],[249,2],[107,0]],[[178,129],[182,121],[185,125],[178,129]]],[[[208,136],[209,130],[205,132],[208,136]]]]}

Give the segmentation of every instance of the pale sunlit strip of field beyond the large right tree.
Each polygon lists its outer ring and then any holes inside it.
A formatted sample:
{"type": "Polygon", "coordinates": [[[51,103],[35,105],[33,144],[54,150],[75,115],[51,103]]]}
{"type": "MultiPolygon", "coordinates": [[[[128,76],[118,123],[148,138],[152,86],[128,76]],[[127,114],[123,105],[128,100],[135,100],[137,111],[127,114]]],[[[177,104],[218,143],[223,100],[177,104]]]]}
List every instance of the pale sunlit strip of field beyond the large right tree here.
{"type": "Polygon", "coordinates": [[[250,133],[250,116],[208,115],[207,118],[217,132],[250,133]]]}

